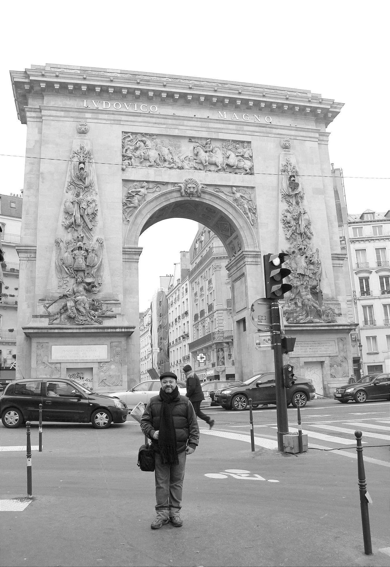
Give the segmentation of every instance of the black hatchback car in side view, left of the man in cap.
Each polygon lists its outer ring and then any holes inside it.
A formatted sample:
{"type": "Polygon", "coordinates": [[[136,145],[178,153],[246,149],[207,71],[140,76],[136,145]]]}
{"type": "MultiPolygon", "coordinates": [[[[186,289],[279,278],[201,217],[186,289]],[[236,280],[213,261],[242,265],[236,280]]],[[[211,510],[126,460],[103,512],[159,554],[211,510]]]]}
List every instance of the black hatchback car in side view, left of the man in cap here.
{"type": "Polygon", "coordinates": [[[0,397],[3,425],[17,428],[24,421],[39,421],[39,404],[42,421],[91,422],[96,429],[122,424],[128,416],[121,400],[91,392],[73,380],[31,378],[5,388],[0,397]]]}

